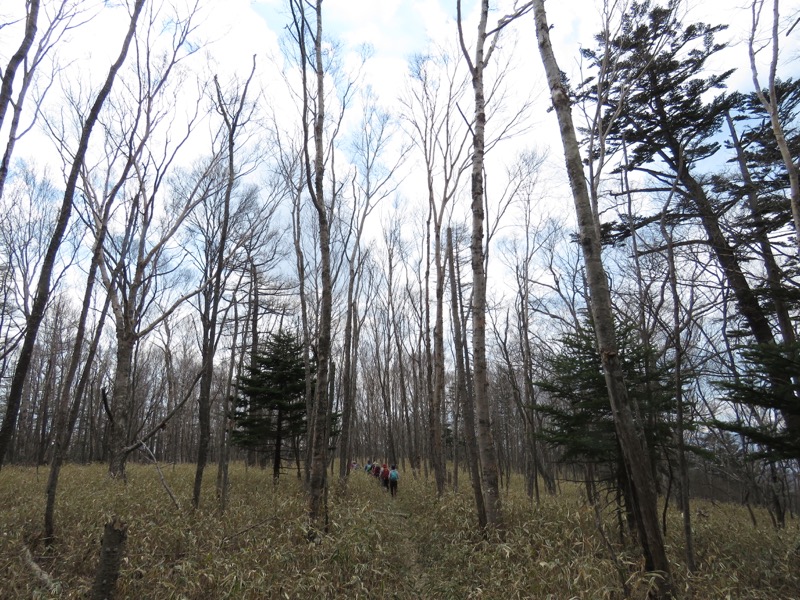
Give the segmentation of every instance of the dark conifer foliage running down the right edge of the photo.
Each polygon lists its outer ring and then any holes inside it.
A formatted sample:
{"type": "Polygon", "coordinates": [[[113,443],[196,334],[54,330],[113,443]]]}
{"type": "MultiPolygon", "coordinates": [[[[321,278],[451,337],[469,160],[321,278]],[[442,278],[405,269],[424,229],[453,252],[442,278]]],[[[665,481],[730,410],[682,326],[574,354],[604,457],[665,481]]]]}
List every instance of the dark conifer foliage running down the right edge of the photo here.
{"type": "MultiPolygon", "coordinates": [[[[776,96],[786,140],[796,155],[800,152],[800,80],[777,80],[776,96]]],[[[754,456],[770,460],[797,458],[800,438],[790,435],[786,427],[787,418],[800,419],[800,344],[793,318],[800,308],[800,291],[796,285],[798,263],[791,258],[794,246],[787,233],[792,228],[785,193],[788,176],[769,119],[755,93],[736,94],[734,100],[733,120],[742,130],[740,144],[750,180],[720,177],[718,187],[732,197],[755,196],[755,210],[745,212],[737,223],[744,232],[739,239],[755,249],[758,246],[751,238],[761,235],[770,240],[774,274],[765,257],[766,277],[755,290],[770,318],[782,324],[782,339],[780,343],[745,340],[738,348],[741,373],[717,382],[717,387],[737,405],[741,422],[720,419],[716,423],[748,438],[758,449],[754,456]],[[779,264],[780,256],[790,259],[779,264]]]]}

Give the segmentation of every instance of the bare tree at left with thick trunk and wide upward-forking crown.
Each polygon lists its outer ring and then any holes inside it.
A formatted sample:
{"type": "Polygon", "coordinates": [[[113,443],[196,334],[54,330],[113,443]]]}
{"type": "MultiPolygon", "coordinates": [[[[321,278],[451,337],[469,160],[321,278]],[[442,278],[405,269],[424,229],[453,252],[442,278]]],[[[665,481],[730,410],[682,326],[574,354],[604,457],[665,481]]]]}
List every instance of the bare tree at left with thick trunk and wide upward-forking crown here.
{"type": "MultiPolygon", "coordinates": [[[[107,158],[105,172],[98,167],[96,176],[101,181],[113,177],[116,160],[132,164],[133,176],[127,178],[122,169],[116,180],[120,206],[113,218],[122,224],[122,230],[105,237],[100,265],[103,286],[111,296],[117,342],[111,402],[105,407],[111,421],[109,472],[116,477],[125,476],[127,456],[141,441],[140,428],[134,422],[133,369],[138,345],[205,284],[200,282],[188,290],[176,288],[181,258],[170,244],[191,212],[223,186],[215,176],[220,162],[220,154],[216,153],[201,159],[185,177],[173,176],[169,203],[161,204],[164,184],[175,174],[174,163],[198,119],[199,103],[196,112],[186,116],[182,131],[172,122],[178,108],[172,100],[174,90],[182,83],[176,79],[178,64],[196,50],[189,43],[196,16],[197,5],[190,6],[185,15],[166,15],[160,8],[147,12],[146,34],[137,36],[140,60],[133,70],[128,93],[116,99],[116,114],[131,121],[107,127],[107,144],[114,153],[107,158]],[[163,19],[172,21],[175,34],[166,49],[159,49],[149,34],[161,26],[163,19]],[[161,51],[164,54],[158,56],[161,51]],[[169,134],[161,129],[167,126],[172,127],[169,134]],[[165,137],[156,141],[159,131],[165,137]]],[[[109,199],[90,177],[86,178],[86,196],[93,203],[92,227],[97,235],[108,227],[103,222],[109,214],[103,203],[109,199]]]]}

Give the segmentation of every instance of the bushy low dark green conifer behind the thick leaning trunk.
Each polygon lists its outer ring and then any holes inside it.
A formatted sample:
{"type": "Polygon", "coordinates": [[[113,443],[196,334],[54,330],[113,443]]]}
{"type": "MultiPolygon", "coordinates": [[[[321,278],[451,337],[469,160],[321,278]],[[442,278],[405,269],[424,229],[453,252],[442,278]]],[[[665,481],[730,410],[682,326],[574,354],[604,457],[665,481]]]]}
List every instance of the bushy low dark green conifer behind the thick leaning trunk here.
{"type": "MultiPolygon", "coordinates": [[[[650,459],[655,463],[659,450],[672,440],[667,419],[675,406],[670,374],[666,367],[654,364],[653,350],[639,341],[632,324],[619,324],[617,344],[629,394],[638,406],[650,459]]],[[[561,448],[564,462],[594,465],[602,480],[620,487],[627,503],[630,486],[591,320],[586,317],[583,326],[564,335],[561,347],[561,352],[547,361],[548,376],[536,382],[551,398],[548,405],[538,407],[547,416],[539,435],[561,448]]]]}

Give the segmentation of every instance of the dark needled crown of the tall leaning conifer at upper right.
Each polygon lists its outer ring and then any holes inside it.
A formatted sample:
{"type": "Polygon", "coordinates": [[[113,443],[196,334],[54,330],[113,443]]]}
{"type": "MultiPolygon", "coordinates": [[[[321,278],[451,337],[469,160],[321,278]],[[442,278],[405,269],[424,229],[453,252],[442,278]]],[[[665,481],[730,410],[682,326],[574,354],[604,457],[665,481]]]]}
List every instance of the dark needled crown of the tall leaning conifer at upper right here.
{"type": "Polygon", "coordinates": [[[608,149],[619,150],[625,143],[627,168],[643,169],[667,183],[674,180],[675,171],[691,171],[719,150],[714,136],[730,100],[718,90],[733,73],[705,69],[709,58],[725,48],[714,38],[727,26],[684,26],[678,20],[678,4],[634,2],[623,16],[619,35],[610,40],[598,35],[596,49],[581,51],[597,75],[578,90],[579,98],[603,105],[603,122],[595,133],[608,132],[608,149]],[[607,62],[614,69],[603,75],[607,62]],[[607,94],[601,98],[597,77],[608,78],[603,79],[601,89],[607,94]]]}

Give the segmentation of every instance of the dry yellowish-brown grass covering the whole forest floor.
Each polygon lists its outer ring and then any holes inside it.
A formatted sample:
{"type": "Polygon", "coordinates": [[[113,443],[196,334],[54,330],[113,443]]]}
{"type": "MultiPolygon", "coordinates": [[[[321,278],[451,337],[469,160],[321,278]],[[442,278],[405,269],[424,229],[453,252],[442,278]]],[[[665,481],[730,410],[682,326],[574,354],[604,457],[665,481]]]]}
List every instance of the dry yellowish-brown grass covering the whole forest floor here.
{"type": "MultiPolygon", "coordinates": [[[[270,473],[237,465],[224,515],[214,507],[213,470],[199,511],[189,508],[194,468],[170,467],[165,476],[181,510],[152,467],[130,465],[127,485],[107,479],[100,465],[66,467],[57,541],[45,548],[46,470],[3,468],[0,598],[85,597],[112,515],[128,524],[120,598],[594,600],[622,598],[622,578],[632,598],[644,598],[652,580],[641,573],[635,548],[616,548],[614,560],[574,488],[534,505],[521,482],[512,485],[504,496],[505,539],[486,542],[466,487],[439,500],[432,482],[406,473],[392,500],[355,473],[346,493],[331,490],[328,535],[309,543],[305,496],[291,475],[276,488],[270,473]]],[[[695,520],[700,570],[692,576],[682,560],[680,515],[669,517],[668,551],[682,597],[800,598],[796,520],[777,532],[766,515],[753,528],[738,506],[702,510],[708,516],[695,520]]],[[[616,543],[611,519],[606,525],[616,543]]]]}

